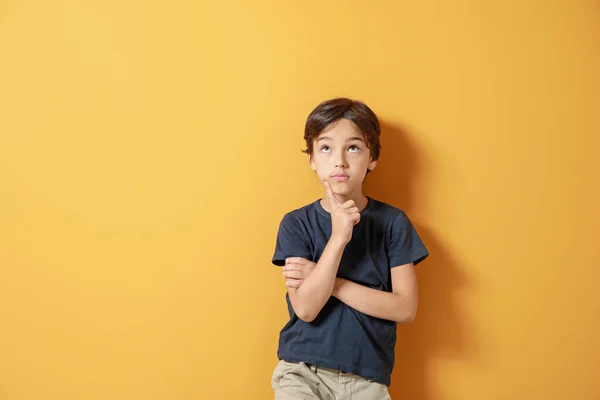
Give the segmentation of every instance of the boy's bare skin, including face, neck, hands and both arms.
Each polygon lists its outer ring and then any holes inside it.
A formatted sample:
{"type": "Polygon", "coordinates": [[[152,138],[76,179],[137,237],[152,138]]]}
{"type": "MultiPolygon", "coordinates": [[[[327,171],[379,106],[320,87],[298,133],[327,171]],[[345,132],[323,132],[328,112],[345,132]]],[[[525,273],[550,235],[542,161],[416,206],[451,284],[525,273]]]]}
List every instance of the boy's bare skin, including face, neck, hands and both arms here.
{"type": "Polygon", "coordinates": [[[329,297],[372,317],[399,323],[412,322],[418,306],[417,277],[414,264],[392,268],[392,293],[371,289],[338,278],[337,270],[344,248],[352,238],[354,225],[368,200],[362,192],[367,170],[377,161],[371,158],[364,135],[347,119],[325,129],[313,142],[309,163],[323,182],[323,208],[331,213],[332,234],[318,263],[300,257],[286,260],[283,275],[294,312],[312,322],[329,297]],[[336,179],[335,175],[344,179],[336,179]]]}

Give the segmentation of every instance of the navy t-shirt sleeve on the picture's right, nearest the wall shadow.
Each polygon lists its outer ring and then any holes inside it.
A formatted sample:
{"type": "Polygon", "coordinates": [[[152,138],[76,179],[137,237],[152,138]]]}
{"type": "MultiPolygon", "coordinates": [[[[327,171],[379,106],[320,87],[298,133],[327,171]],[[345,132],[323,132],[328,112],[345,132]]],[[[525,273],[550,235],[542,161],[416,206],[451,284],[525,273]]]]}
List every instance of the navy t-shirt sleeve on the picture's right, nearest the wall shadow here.
{"type": "Polygon", "coordinates": [[[392,224],[388,255],[392,268],[411,262],[417,265],[429,255],[415,227],[403,211],[396,216],[392,224]]]}

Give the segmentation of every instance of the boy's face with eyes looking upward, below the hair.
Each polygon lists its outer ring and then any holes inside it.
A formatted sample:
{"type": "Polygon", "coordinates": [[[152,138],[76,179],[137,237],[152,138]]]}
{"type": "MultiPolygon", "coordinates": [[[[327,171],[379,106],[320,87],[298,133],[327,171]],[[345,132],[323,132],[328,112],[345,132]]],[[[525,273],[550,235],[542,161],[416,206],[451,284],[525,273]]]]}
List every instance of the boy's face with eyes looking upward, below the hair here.
{"type": "Polygon", "coordinates": [[[310,166],[321,182],[329,182],[335,194],[362,194],[367,170],[373,170],[375,165],[377,161],[371,160],[363,133],[345,118],[336,121],[313,142],[310,166]]]}

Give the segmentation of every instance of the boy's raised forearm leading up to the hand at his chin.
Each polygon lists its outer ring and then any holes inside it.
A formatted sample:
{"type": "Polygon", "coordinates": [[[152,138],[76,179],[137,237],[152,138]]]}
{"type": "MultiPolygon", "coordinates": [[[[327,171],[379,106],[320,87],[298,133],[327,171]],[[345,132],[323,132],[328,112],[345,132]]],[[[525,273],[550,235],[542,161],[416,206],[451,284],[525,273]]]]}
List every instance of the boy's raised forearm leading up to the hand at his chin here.
{"type": "Polygon", "coordinates": [[[299,288],[289,288],[290,301],[298,318],[314,320],[331,297],[346,243],[331,239],[319,262],[299,288]]]}

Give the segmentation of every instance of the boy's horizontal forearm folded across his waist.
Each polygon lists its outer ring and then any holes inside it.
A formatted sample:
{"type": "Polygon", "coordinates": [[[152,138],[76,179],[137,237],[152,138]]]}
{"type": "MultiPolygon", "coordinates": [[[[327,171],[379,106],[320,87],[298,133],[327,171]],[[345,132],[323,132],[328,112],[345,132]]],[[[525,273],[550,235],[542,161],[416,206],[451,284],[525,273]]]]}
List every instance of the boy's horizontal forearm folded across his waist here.
{"type": "Polygon", "coordinates": [[[417,311],[415,300],[342,278],[336,278],[332,295],[363,314],[400,323],[412,322],[417,311]]]}

